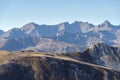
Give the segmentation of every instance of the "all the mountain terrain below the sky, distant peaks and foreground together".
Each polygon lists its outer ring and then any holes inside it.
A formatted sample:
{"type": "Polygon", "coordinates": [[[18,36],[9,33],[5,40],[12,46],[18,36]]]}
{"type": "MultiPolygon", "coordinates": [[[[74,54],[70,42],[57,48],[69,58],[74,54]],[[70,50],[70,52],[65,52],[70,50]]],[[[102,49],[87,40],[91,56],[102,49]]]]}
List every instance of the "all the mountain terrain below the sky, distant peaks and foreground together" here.
{"type": "Polygon", "coordinates": [[[109,21],[0,30],[0,80],[120,80],[119,41],[109,21]]]}

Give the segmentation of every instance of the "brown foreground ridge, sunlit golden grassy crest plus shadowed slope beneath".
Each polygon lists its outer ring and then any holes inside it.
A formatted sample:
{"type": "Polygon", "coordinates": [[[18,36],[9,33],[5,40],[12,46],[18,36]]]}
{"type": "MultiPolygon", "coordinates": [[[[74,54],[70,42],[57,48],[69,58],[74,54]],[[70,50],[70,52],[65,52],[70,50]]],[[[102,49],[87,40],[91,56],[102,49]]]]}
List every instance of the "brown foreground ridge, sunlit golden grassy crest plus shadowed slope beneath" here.
{"type": "Polygon", "coordinates": [[[119,69],[97,64],[89,53],[0,53],[0,80],[120,80],[119,69]]]}

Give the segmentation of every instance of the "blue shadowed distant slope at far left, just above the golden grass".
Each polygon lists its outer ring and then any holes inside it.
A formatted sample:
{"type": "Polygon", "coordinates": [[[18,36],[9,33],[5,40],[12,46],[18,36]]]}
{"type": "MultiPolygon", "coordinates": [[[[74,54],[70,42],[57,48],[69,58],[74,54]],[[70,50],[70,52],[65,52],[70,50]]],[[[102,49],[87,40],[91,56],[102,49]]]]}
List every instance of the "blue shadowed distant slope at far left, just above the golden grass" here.
{"type": "Polygon", "coordinates": [[[24,37],[7,40],[5,44],[1,46],[1,50],[8,51],[20,51],[27,47],[35,46],[39,42],[37,37],[24,37]]]}

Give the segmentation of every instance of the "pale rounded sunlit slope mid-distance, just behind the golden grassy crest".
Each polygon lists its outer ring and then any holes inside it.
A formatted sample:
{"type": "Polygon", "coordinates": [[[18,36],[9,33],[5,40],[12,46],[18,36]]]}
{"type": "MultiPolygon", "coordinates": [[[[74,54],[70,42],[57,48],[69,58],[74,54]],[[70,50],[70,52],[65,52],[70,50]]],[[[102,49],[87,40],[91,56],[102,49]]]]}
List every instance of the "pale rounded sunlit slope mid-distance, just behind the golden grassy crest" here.
{"type": "Polygon", "coordinates": [[[33,47],[27,47],[24,50],[34,50],[37,52],[61,53],[61,52],[80,52],[84,51],[86,47],[69,44],[52,39],[41,39],[40,42],[33,47]]]}

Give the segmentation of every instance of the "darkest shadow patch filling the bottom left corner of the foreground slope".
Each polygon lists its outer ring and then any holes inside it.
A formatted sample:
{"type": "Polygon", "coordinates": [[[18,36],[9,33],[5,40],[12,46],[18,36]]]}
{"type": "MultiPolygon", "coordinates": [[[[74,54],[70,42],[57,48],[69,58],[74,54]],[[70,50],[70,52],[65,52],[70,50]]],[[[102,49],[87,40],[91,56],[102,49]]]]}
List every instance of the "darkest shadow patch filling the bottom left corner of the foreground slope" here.
{"type": "Polygon", "coordinates": [[[35,80],[31,66],[5,64],[0,66],[0,80],[35,80]]]}

